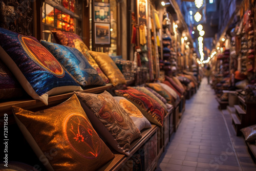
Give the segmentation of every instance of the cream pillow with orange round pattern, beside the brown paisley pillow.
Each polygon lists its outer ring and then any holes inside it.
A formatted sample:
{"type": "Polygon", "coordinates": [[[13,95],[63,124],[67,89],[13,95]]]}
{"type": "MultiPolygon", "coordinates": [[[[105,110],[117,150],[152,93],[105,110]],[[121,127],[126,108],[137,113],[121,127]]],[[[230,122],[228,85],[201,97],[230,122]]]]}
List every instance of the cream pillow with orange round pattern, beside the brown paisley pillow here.
{"type": "Polygon", "coordinates": [[[114,99],[116,99],[116,101],[123,107],[127,114],[129,114],[134,124],[140,131],[151,127],[150,121],[145,118],[145,116],[132,102],[124,97],[119,96],[114,97],[114,99]]]}

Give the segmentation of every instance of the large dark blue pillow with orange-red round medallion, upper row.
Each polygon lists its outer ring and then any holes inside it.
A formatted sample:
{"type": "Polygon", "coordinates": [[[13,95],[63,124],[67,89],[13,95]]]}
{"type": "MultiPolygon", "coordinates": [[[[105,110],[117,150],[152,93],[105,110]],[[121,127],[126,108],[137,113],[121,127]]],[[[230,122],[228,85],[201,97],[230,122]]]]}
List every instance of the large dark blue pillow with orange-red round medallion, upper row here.
{"type": "Polygon", "coordinates": [[[82,88],[38,41],[0,28],[0,58],[24,90],[48,104],[48,96],[82,88]]]}

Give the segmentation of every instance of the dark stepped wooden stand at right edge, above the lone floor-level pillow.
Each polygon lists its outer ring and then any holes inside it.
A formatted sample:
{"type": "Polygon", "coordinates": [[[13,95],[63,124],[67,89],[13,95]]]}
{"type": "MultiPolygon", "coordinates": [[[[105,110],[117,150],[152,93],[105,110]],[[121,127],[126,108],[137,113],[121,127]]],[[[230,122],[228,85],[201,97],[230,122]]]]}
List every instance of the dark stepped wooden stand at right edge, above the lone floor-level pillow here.
{"type": "Polygon", "coordinates": [[[231,114],[232,125],[237,136],[241,135],[241,129],[256,123],[255,105],[256,102],[247,102],[243,97],[238,96],[238,105],[234,105],[236,113],[231,114]]]}

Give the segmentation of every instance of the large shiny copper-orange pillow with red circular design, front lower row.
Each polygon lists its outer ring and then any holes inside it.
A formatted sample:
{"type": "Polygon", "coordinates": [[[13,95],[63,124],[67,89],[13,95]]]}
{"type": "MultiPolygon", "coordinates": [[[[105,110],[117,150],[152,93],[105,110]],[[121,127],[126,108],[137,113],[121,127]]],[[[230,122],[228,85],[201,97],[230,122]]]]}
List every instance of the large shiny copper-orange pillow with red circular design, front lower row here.
{"type": "Polygon", "coordinates": [[[13,106],[13,113],[19,129],[48,170],[96,170],[114,158],[75,94],[46,110],[31,112],[13,106]]]}

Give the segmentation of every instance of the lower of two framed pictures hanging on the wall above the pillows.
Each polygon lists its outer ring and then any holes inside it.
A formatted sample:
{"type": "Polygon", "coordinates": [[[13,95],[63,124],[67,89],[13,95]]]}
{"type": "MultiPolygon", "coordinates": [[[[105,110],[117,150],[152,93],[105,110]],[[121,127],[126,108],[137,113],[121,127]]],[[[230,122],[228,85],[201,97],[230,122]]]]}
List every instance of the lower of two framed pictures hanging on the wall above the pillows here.
{"type": "Polygon", "coordinates": [[[94,44],[97,47],[110,46],[109,23],[94,23],[94,44]]]}

